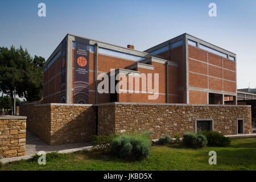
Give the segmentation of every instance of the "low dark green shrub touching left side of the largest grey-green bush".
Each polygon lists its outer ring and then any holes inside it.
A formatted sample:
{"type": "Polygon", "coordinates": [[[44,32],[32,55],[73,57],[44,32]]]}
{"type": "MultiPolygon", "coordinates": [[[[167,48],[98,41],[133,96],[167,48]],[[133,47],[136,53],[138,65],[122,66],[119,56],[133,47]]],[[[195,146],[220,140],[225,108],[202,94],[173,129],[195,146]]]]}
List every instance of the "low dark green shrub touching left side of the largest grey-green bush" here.
{"type": "Polygon", "coordinates": [[[92,146],[99,146],[103,150],[109,148],[110,142],[117,137],[116,135],[93,135],[92,136],[92,146]]]}

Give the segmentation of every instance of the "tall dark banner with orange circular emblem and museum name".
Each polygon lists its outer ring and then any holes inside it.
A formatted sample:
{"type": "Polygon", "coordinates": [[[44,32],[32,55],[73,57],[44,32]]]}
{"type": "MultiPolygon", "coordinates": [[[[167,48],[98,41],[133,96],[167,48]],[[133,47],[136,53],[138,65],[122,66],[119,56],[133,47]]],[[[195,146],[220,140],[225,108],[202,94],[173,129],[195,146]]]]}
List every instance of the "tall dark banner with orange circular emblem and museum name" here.
{"type": "Polygon", "coordinates": [[[89,52],[87,39],[75,38],[74,104],[89,103],[89,52]]]}

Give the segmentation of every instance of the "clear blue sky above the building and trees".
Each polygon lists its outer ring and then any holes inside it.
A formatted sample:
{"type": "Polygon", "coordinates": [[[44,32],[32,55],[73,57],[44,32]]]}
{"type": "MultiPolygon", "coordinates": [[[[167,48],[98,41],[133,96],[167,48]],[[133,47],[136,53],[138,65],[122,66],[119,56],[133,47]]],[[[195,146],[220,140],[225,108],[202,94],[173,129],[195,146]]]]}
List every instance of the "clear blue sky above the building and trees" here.
{"type": "Polygon", "coordinates": [[[237,54],[237,87],[256,87],[256,1],[1,1],[0,46],[48,59],[67,33],[144,51],[187,32],[237,54]],[[46,17],[38,4],[46,3],[46,17]],[[217,17],[208,15],[216,3],[217,17]]]}

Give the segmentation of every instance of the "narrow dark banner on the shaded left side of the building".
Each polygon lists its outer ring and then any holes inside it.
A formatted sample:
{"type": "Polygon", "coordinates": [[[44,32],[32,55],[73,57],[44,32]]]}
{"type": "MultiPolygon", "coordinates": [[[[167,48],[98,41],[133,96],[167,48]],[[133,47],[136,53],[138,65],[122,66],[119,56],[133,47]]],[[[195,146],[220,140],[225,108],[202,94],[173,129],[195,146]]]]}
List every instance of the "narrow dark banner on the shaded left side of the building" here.
{"type": "Polygon", "coordinates": [[[66,47],[67,42],[63,40],[61,43],[61,81],[60,81],[60,102],[66,102],[66,47]]]}

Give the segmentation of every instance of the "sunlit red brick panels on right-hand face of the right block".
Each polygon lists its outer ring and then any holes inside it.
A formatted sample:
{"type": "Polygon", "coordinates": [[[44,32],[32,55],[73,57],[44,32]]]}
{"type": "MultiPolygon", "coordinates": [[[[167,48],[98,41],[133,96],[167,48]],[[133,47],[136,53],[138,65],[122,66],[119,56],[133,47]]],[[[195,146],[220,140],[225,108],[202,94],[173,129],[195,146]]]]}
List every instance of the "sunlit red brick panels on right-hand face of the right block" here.
{"type": "MultiPolygon", "coordinates": [[[[236,81],[236,72],[227,70],[236,71],[236,62],[193,46],[188,46],[188,59],[189,86],[236,93],[236,82],[232,82],[236,81]],[[222,59],[223,68],[226,69],[222,68],[222,59]]],[[[207,103],[207,97],[205,99],[204,102],[207,103]]],[[[191,104],[198,104],[196,100],[189,100],[191,104]]],[[[217,100],[218,102],[220,101],[219,99],[217,100]]]]}

